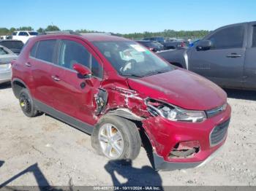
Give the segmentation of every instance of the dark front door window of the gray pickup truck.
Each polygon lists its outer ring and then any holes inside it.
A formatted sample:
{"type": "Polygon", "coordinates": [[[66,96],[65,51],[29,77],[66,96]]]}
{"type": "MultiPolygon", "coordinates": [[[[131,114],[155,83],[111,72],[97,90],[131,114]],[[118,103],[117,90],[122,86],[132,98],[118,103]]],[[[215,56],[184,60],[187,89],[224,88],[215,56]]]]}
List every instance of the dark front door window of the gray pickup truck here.
{"type": "Polygon", "coordinates": [[[220,29],[209,40],[212,42],[212,49],[243,47],[244,26],[230,26],[220,29]]]}

